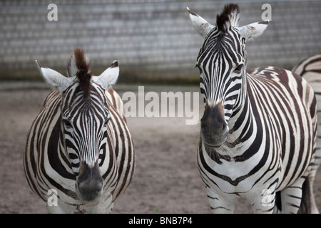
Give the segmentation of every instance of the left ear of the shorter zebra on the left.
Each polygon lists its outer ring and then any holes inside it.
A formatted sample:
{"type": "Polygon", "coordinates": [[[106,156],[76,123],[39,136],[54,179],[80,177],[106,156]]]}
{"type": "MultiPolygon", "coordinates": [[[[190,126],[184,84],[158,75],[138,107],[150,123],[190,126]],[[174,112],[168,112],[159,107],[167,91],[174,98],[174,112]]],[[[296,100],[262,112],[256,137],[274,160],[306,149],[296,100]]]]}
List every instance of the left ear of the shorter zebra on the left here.
{"type": "Polygon", "coordinates": [[[75,79],[75,77],[66,78],[61,73],[58,73],[51,68],[41,66],[38,61],[36,61],[36,65],[41,73],[41,76],[44,77],[46,82],[49,83],[54,90],[58,90],[60,93],[62,93],[63,90],[66,90],[66,88],[68,88],[68,86],[70,86],[72,81],[75,79]]]}

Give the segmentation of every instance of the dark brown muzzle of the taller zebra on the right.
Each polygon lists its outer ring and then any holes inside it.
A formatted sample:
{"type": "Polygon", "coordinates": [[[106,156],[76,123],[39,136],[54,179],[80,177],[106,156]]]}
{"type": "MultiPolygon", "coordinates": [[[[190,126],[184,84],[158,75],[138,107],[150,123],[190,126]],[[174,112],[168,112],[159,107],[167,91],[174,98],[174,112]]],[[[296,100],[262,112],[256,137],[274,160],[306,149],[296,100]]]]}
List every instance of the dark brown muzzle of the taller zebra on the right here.
{"type": "Polygon", "coordinates": [[[228,137],[228,124],[224,118],[223,105],[206,105],[200,119],[200,135],[206,145],[219,147],[228,137]]]}

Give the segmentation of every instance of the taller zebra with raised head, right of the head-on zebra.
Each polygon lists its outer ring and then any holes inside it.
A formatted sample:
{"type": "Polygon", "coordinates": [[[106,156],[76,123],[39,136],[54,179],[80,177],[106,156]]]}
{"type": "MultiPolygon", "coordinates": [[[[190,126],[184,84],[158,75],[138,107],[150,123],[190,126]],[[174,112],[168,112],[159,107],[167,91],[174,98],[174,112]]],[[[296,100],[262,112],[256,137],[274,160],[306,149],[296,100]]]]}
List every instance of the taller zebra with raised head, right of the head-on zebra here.
{"type": "Polygon", "coordinates": [[[269,21],[238,26],[238,4],[227,4],[215,26],[188,9],[204,38],[196,66],[204,113],[198,169],[213,213],[233,213],[245,197],[255,213],[317,213],[313,194],[316,98],[304,78],[272,66],[247,71],[246,41],[269,21]],[[312,192],[312,190],[309,190],[312,192]],[[307,200],[307,201],[305,201],[307,200]]]}

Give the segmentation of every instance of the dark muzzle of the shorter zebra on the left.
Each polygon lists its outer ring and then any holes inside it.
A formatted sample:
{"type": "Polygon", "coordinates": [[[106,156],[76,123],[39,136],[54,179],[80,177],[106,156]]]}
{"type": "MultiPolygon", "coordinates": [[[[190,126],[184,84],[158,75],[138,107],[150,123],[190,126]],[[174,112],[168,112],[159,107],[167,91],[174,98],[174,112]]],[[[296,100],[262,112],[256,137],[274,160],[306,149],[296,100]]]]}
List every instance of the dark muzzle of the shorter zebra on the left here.
{"type": "Polygon", "coordinates": [[[93,167],[81,162],[76,178],[76,193],[79,199],[83,202],[94,202],[101,197],[102,192],[103,177],[98,162],[93,167]]]}

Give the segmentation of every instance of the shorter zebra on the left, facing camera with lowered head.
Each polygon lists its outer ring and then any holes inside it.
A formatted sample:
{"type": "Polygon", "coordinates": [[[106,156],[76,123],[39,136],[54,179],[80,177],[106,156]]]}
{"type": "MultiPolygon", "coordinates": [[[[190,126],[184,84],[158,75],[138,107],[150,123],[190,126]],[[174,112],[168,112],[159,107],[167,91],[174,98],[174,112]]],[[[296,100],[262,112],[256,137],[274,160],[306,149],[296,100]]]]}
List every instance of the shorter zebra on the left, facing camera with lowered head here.
{"type": "Polygon", "coordinates": [[[36,63],[54,90],[26,139],[24,171],[31,190],[50,213],[112,212],[135,168],[123,103],[111,88],[118,61],[92,76],[88,56],[74,48],[67,77],[36,63]]]}

